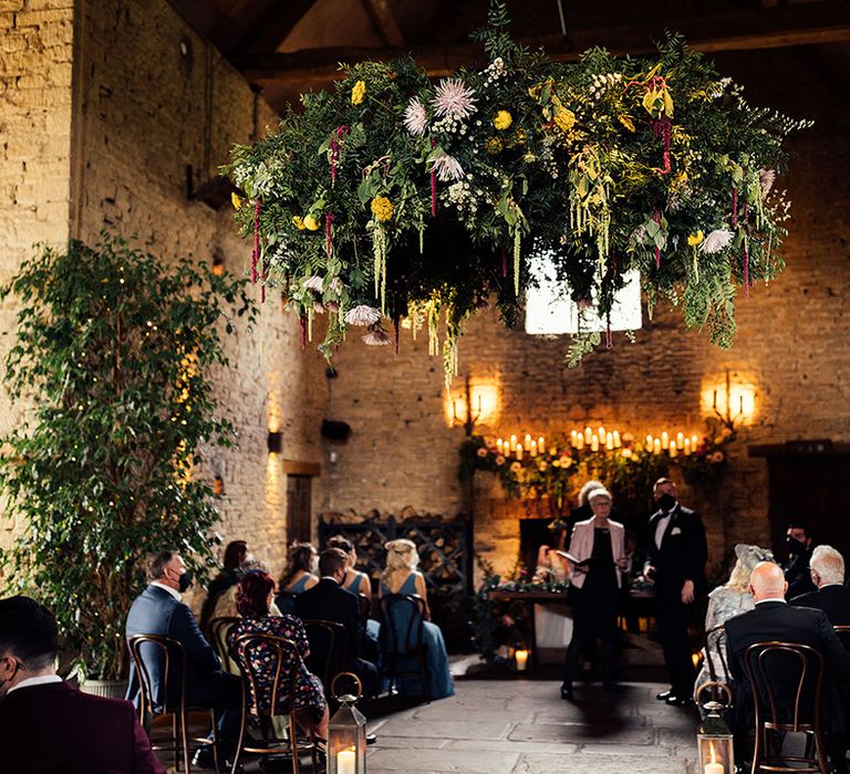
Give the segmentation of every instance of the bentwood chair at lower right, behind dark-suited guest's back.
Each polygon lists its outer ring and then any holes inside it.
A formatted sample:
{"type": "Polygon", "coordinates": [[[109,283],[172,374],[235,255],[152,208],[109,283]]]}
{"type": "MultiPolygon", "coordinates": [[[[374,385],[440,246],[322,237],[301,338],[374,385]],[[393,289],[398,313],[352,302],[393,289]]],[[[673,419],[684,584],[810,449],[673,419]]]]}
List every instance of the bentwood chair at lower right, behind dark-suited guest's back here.
{"type": "Polygon", "coordinates": [[[751,774],[759,771],[829,774],[820,724],[821,655],[799,642],[756,642],[744,653],[744,665],[755,708],[751,774]],[[768,731],[805,733],[806,752],[785,755],[778,749],[771,750],[768,731]]]}

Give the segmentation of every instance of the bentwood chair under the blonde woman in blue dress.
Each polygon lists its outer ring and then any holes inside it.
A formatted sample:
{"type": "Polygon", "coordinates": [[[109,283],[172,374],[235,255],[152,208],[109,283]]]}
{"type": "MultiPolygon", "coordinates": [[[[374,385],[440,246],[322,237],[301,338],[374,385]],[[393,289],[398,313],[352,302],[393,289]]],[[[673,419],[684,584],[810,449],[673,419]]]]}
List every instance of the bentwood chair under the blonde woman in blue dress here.
{"type": "Polygon", "coordinates": [[[387,594],[381,598],[381,652],[390,690],[404,693],[403,679],[418,677],[425,701],[431,701],[424,642],[425,600],[413,594],[387,594]]]}

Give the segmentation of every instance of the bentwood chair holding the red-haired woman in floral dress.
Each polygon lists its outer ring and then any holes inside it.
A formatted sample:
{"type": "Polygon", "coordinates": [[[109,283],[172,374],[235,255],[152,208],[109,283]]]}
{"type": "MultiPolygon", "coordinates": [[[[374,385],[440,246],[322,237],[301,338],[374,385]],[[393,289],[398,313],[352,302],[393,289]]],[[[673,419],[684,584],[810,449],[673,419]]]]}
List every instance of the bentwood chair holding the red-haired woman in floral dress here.
{"type": "Polygon", "coordinates": [[[243,752],[260,755],[288,753],[293,774],[299,774],[300,771],[299,756],[309,752],[313,772],[319,771],[315,740],[299,744],[296,713],[292,711],[296,705],[298,676],[303,663],[298,646],[282,637],[242,635],[234,644],[234,657],[242,673],[242,717],[231,774],[238,771],[239,756],[243,752]],[[289,717],[288,739],[274,733],[273,719],[280,715],[289,717]],[[251,719],[259,726],[259,741],[247,736],[251,719]]]}

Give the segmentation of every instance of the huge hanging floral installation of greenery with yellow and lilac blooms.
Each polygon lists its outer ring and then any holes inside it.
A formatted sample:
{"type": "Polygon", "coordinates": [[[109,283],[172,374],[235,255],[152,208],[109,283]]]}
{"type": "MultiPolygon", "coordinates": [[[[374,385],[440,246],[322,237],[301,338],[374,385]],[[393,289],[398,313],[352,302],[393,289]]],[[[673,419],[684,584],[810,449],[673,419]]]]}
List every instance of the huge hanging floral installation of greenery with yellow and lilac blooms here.
{"type": "MultiPolygon", "coordinates": [[[[655,57],[591,49],[578,63],[529,52],[491,2],[476,34],[489,64],[438,84],[410,57],[343,65],[272,134],[236,146],[252,279],[281,289],[302,343],[326,314],[331,357],[349,326],[366,344],[427,325],[456,373],[462,323],[495,299],[514,325],[530,268],[550,257],[564,295],[602,320],[640,270],[649,311],[728,346],[735,296],[782,269],[782,140],[809,126],[751,107],[743,88],[667,33],[655,57]],[[439,321],[445,321],[439,342],[439,321]]],[[[610,331],[607,343],[611,345],[610,331]]],[[[570,360],[600,342],[574,337],[570,360]]]]}

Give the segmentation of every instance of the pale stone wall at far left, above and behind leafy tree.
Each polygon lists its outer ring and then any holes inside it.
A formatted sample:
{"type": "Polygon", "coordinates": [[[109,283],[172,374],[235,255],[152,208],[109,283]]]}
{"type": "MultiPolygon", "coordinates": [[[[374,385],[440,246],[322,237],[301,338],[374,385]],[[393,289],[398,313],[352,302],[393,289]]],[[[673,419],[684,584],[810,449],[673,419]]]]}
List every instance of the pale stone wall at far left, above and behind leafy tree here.
{"type": "MultiPolygon", "coordinates": [[[[0,0],[0,284],[33,244],[68,240],[73,0],[0,0]]],[[[0,358],[12,346],[15,303],[0,304],[0,358]]],[[[0,390],[0,435],[25,407],[0,390]]],[[[0,526],[0,545],[13,523],[0,526]]]]}

